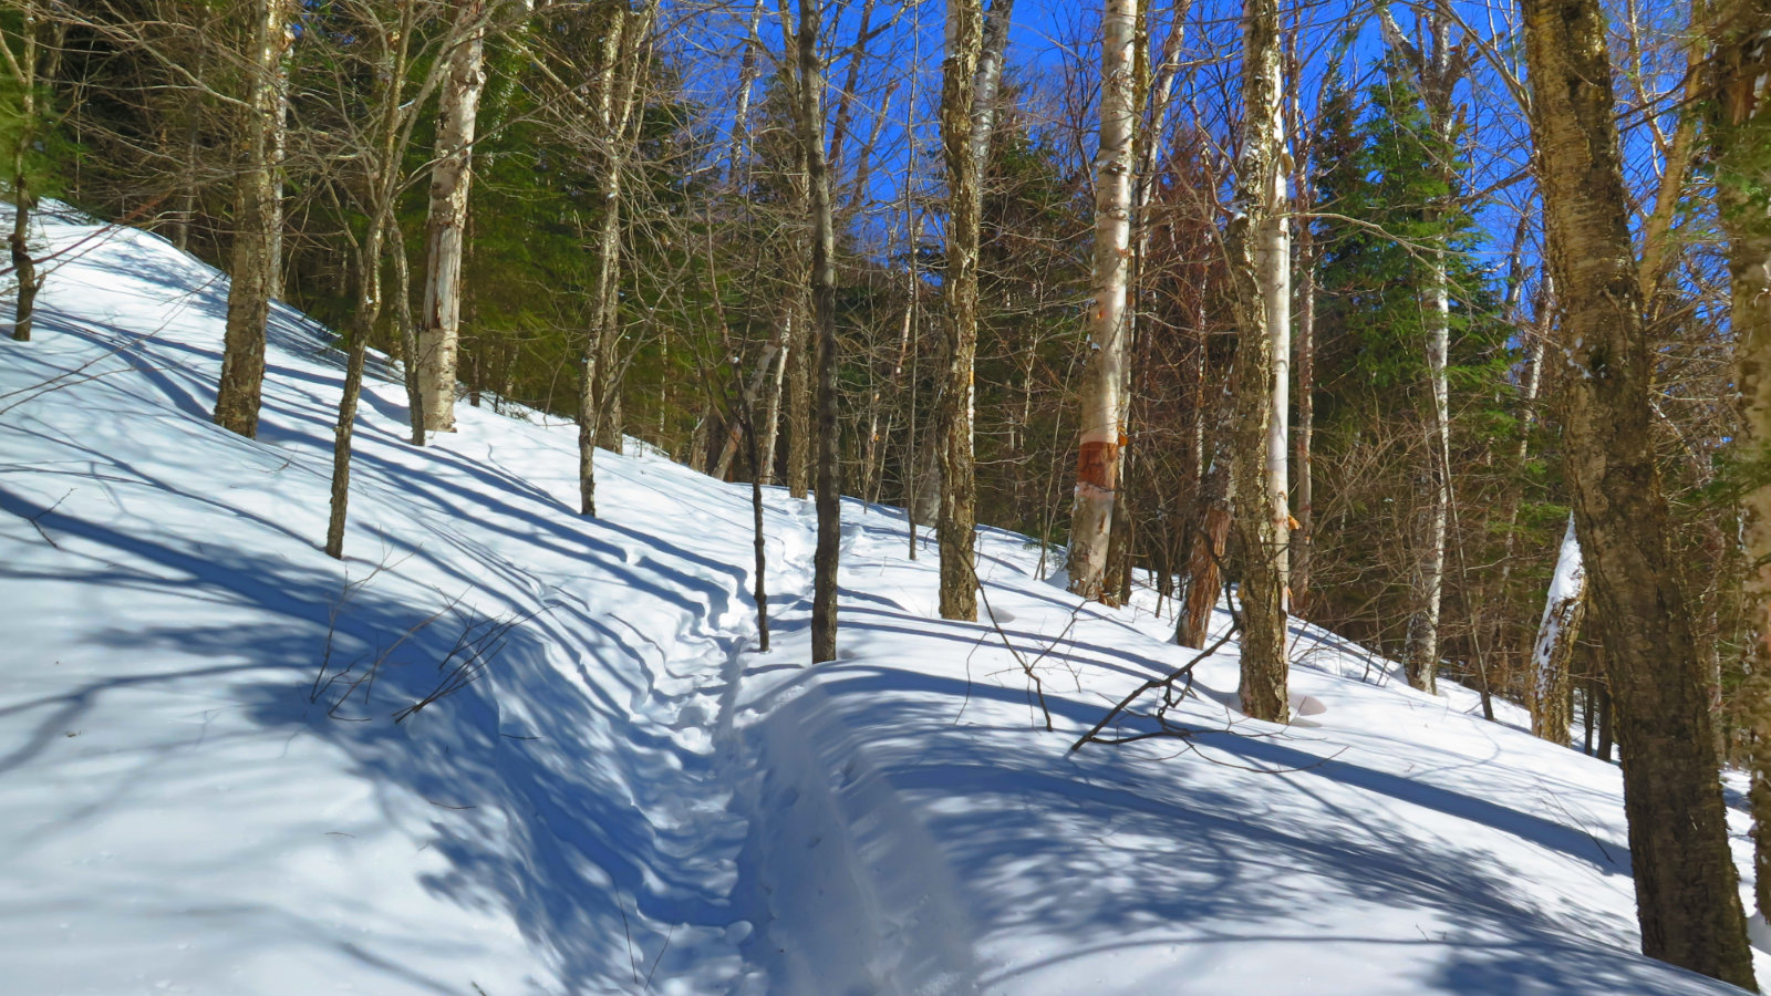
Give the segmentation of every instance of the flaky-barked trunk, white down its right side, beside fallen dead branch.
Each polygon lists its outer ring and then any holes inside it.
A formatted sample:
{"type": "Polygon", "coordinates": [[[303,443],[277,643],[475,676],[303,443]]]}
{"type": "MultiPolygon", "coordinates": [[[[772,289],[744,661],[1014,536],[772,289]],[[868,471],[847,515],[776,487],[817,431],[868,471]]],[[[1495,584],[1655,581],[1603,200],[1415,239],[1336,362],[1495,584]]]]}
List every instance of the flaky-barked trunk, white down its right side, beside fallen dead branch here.
{"type": "MultiPolygon", "coordinates": [[[[1286,509],[1284,482],[1272,477],[1273,401],[1279,365],[1273,287],[1282,255],[1284,167],[1277,0],[1243,9],[1243,138],[1236,211],[1224,234],[1231,307],[1236,315],[1236,411],[1231,425],[1233,525],[1241,548],[1241,711],[1286,721],[1286,509]],[[1277,484],[1277,487],[1275,487],[1277,484]]],[[[1284,447],[1279,448],[1280,463],[1284,447]]]]}

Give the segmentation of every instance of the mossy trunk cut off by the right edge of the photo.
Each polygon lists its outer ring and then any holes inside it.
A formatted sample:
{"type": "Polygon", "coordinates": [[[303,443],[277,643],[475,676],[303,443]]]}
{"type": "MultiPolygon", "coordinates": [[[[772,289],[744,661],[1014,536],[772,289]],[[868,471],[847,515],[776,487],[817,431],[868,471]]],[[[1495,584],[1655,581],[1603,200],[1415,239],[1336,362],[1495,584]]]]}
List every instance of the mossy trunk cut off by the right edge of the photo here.
{"type": "Polygon", "coordinates": [[[1716,11],[1711,124],[1716,198],[1728,236],[1730,321],[1736,385],[1741,392],[1737,448],[1752,487],[1741,496],[1741,539],[1748,564],[1744,611],[1748,723],[1753,808],[1753,899],[1771,914],[1771,0],[1730,0],[1716,11]]]}

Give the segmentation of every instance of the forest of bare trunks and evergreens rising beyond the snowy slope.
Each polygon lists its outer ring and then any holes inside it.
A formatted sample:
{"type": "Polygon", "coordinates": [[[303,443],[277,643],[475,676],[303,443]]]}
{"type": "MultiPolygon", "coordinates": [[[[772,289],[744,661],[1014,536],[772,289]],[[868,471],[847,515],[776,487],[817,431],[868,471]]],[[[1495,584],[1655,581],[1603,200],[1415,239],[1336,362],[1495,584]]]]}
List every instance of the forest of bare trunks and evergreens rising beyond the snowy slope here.
{"type": "Polygon", "coordinates": [[[1753,989],[1771,2],[5,0],[0,43],[16,346],[64,207],[227,275],[230,432],[275,303],[338,330],[329,556],[381,358],[414,450],[574,422],[583,517],[611,454],[744,484],[762,650],[776,489],[811,663],[843,496],[947,620],[1009,530],[1188,654],[1227,606],[1247,718],[1296,718],[1307,622],[1615,759],[1642,952],[1753,989]]]}

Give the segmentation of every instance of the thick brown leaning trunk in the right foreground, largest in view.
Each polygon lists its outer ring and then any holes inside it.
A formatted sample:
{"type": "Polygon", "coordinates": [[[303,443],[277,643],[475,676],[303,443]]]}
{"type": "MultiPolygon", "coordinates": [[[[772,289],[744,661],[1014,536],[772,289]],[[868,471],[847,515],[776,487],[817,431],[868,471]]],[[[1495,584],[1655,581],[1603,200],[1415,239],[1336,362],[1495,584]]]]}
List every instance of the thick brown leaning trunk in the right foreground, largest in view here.
{"type": "Polygon", "coordinates": [[[1642,950],[1753,985],[1702,663],[1668,546],[1652,344],[1629,243],[1605,14],[1523,0],[1532,136],[1574,376],[1564,459],[1612,679],[1642,950]]]}

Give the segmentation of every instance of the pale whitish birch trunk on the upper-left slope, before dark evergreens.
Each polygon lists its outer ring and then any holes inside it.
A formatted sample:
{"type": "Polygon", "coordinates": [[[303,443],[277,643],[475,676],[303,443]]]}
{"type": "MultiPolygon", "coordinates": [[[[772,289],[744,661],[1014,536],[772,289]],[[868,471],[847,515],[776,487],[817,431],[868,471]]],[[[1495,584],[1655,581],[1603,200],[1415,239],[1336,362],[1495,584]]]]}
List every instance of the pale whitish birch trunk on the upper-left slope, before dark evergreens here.
{"type": "Polygon", "coordinates": [[[430,214],[425,223],[425,303],[418,333],[420,390],[429,401],[425,427],[455,431],[455,374],[460,353],[460,264],[473,188],[473,140],[485,92],[485,4],[455,7],[455,46],[439,94],[436,165],[430,167],[430,214]]]}

